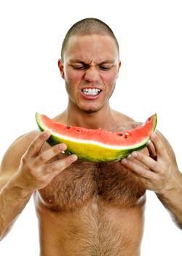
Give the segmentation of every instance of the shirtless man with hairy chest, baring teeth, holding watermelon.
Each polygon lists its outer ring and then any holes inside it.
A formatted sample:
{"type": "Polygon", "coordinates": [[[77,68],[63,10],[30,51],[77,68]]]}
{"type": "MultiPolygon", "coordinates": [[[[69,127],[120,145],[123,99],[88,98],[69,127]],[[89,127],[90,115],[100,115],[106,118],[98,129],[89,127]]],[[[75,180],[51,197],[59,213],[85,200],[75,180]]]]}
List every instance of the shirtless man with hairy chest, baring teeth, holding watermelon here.
{"type": "MultiPolygon", "coordinates": [[[[74,24],[58,61],[68,107],[54,120],[111,131],[138,126],[109,105],[120,66],[116,37],[105,23],[89,18],[74,24]]],[[[67,157],[66,145],[50,147],[49,136],[38,131],[23,135],[2,159],[1,238],[31,195],[39,219],[41,256],[140,255],[146,189],[156,193],[182,227],[182,175],[161,133],[151,135],[142,151],[108,163],[67,157]]]]}

